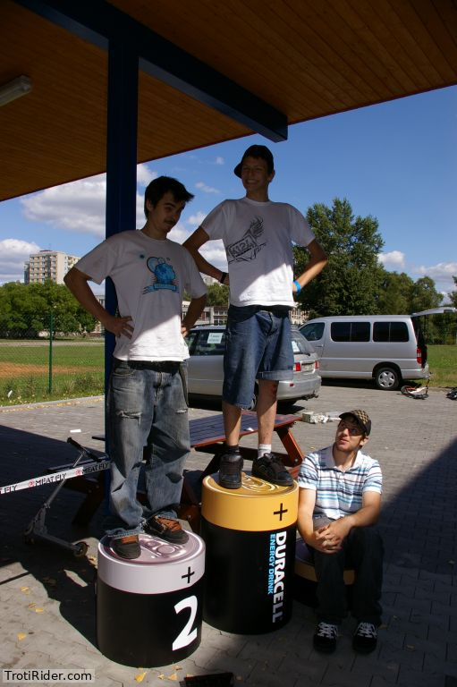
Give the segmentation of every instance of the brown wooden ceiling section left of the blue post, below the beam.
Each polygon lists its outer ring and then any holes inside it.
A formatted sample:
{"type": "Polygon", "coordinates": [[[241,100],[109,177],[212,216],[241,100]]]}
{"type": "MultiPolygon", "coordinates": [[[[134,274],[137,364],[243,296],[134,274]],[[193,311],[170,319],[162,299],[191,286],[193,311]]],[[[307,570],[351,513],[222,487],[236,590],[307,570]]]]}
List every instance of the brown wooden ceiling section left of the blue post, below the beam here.
{"type": "Polygon", "coordinates": [[[29,95],[0,107],[0,159],[8,170],[1,198],[102,171],[106,54],[13,3],[2,4],[0,17],[0,82],[21,74],[33,82],[29,95]]]}

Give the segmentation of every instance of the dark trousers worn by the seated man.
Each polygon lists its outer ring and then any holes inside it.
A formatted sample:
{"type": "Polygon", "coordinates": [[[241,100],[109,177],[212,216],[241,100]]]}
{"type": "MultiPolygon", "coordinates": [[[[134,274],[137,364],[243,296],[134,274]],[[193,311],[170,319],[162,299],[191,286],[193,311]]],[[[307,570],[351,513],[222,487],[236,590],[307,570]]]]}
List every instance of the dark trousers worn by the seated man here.
{"type": "Polygon", "coordinates": [[[317,575],[317,617],[324,623],[339,624],[347,614],[345,567],[353,567],[351,614],[367,623],[381,624],[379,603],[383,584],[384,546],[376,527],[353,527],[336,554],[322,554],[310,548],[317,575]]]}

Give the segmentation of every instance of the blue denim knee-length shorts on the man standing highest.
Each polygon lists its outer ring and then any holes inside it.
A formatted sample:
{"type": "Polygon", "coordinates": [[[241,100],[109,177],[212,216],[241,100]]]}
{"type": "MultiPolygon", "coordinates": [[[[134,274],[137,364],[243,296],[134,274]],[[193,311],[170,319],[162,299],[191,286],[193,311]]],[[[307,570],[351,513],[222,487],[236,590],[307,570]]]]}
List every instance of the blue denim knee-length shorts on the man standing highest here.
{"type": "Polygon", "coordinates": [[[250,408],[256,379],[292,379],[288,309],[231,305],[225,341],[222,397],[226,403],[250,408]]]}

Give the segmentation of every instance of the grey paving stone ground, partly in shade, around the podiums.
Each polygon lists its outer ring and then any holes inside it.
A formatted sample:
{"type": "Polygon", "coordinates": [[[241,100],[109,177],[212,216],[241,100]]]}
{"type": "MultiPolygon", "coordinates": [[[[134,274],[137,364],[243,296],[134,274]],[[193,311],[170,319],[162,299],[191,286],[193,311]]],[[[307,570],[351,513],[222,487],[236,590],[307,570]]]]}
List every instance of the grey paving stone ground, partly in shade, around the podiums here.
{"type": "MultiPolygon", "coordinates": [[[[103,507],[85,529],[72,525],[82,496],[63,489],[48,514],[55,536],[89,545],[75,558],[56,547],[27,545],[23,531],[52,487],[0,495],[0,666],[6,669],[93,669],[97,687],[179,683],[186,674],[230,671],[250,687],[456,687],[457,685],[457,403],[444,389],[425,401],[368,384],[326,384],[317,399],[292,411],[322,413],[364,408],[373,420],[368,453],[381,462],[385,494],[380,527],[385,539],[384,617],[377,651],[351,650],[353,621],[343,623],[332,656],[311,647],[315,617],[295,602],[284,628],[263,635],[221,632],[202,625],[202,640],[179,665],[127,667],[97,649],[94,579],[103,507]]],[[[190,418],[218,412],[192,407],[190,418]]],[[[297,422],[293,433],[304,453],[332,443],[335,423],[297,422]]],[[[0,409],[1,485],[72,462],[73,437],[102,451],[93,435],[104,432],[103,399],[0,409]]],[[[256,445],[255,437],[243,439],[256,445]]],[[[274,448],[280,443],[275,439],[274,448]]],[[[202,468],[205,454],[188,467],[202,468]]],[[[134,623],[134,618],[131,619],[134,623]]],[[[17,683],[24,684],[24,683],[17,683]]]]}

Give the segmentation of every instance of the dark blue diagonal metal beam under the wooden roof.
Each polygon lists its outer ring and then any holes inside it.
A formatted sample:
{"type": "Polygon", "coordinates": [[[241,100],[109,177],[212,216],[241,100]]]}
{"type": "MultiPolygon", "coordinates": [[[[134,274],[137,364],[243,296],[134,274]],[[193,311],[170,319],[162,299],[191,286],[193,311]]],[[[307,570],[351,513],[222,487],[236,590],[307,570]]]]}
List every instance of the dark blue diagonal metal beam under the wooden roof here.
{"type": "Polygon", "coordinates": [[[140,69],[275,142],[287,140],[287,117],[104,0],[15,0],[97,47],[123,43],[140,69]]]}

